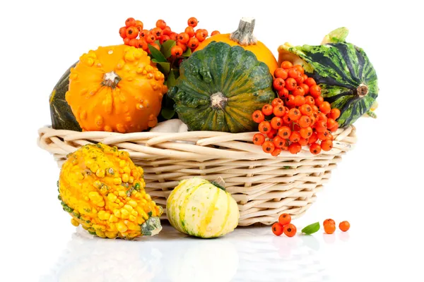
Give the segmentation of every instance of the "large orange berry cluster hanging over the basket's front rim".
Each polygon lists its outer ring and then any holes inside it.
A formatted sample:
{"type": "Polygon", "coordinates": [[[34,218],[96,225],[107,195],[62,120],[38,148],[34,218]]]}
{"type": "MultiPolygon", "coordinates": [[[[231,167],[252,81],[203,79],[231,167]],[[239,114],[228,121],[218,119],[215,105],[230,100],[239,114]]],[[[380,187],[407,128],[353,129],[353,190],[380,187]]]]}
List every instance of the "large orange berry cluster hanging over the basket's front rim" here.
{"type": "Polygon", "coordinates": [[[302,66],[283,61],[274,77],[273,88],[279,98],[252,114],[260,132],[254,135],[254,144],[274,157],[283,150],[298,154],[305,145],[310,145],[312,154],[331,150],[331,132],[338,129],[340,111],[324,102],[321,88],[305,75],[302,66]]]}

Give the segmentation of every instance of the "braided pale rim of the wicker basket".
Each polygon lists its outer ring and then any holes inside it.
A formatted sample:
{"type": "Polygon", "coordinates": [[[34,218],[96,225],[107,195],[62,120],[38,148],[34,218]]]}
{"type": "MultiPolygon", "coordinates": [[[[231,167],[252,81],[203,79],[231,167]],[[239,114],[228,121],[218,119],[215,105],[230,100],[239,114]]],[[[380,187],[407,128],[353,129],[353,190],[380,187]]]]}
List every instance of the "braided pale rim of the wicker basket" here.
{"type": "Polygon", "coordinates": [[[118,145],[120,149],[139,154],[145,159],[319,159],[351,150],[356,142],[355,127],[338,128],[334,135],[334,147],[328,152],[314,155],[308,146],[298,154],[283,151],[278,157],[266,154],[261,146],[252,143],[253,135],[248,133],[225,133],[216,131],[189,131],[184,133],[110,133],[105,131],[56,130],[45,126],[38,130],[38,145],[54,154],[67,154],[76,147],[102,142],[118,145]],[[144,155],[143,155],[144,154],[144,155]]]}

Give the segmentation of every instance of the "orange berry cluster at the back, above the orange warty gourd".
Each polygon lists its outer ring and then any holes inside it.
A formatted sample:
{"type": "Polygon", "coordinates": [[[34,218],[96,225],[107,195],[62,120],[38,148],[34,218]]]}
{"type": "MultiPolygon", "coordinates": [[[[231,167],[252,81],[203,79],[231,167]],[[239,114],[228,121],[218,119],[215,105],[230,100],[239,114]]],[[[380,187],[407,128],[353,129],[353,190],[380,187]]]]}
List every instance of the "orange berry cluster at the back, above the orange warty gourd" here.
{"type": "MultiPolygon", "coordinates": [[[[200,42],[203,42],[208,37],[208,30],[194,30],[197,26],[196,18],[189,18],[187,21],[188,26],[184,32],[177,33],[171,30],[165,20],[158,20],[156,27],[151,30],[143,29],[143,23],[140,20],[134,18],[127,18],[125,20],[125,26],[119,28],[119,35],[124,40],[124,44],[141,48],[144,51],[148,51],[148,44],[151,44],[156,49],[160,50],[160,46],[156,43],[159,41],[163,44],[167,40],[174,40],[177,44],[172,47],[171,54],[174,57],[181,56],[188,48],[192,51],[199,46],[200,42]]],[[[218,35],[220,32],[213,31],[212,35],[218,35]]]]}

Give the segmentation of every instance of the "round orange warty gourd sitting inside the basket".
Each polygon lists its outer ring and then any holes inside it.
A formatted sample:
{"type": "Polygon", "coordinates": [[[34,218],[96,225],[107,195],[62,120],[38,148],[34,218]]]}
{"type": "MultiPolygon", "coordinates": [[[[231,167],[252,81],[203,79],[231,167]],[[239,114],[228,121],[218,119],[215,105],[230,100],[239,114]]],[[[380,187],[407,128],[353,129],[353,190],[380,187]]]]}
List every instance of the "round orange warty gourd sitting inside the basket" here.
{"type": "Polygon", "coordinates": [[[66,102],[85,131],[142,131],[158,123],[164,80],[146,51],[99,47],[71,68],[66,102]]]}

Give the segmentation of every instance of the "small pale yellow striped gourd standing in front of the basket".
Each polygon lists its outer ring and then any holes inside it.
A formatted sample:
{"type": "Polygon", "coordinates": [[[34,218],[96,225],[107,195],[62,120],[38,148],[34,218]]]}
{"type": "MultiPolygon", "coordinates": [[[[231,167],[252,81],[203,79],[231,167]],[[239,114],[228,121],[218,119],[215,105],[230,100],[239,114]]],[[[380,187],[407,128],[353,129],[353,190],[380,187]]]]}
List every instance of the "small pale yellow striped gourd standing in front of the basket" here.
{"type": "Polygon", "coordinates": [[[167,199],[166,214],[175,229],[201,238],[230,233],[240,217],[230,193],[203,178],[182,180],[167,199]]]}

